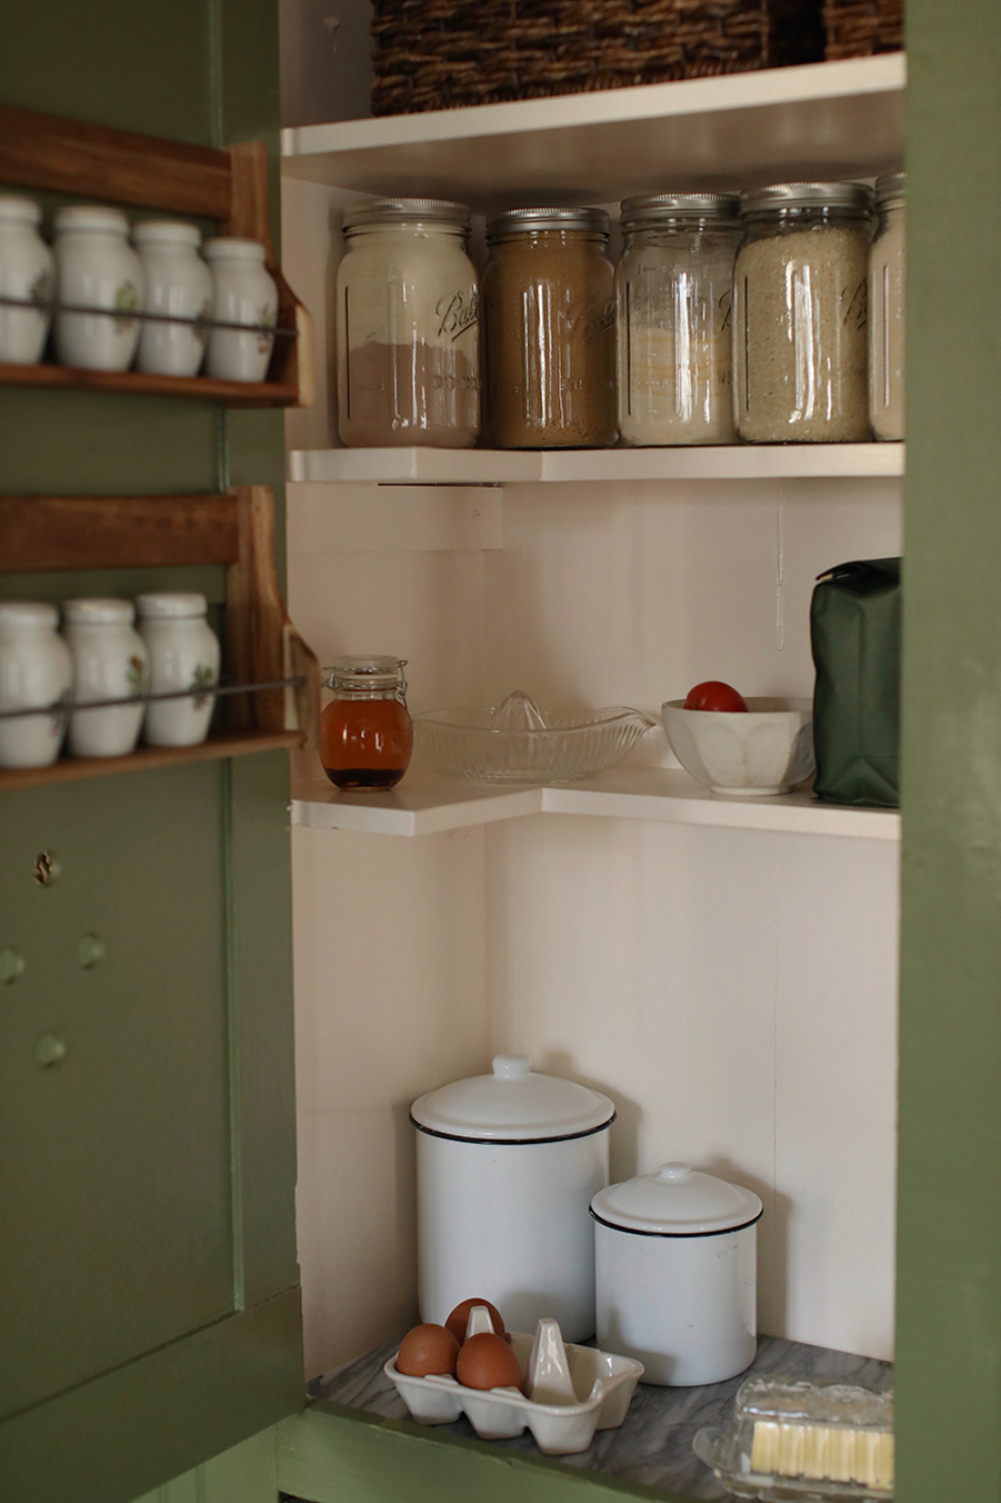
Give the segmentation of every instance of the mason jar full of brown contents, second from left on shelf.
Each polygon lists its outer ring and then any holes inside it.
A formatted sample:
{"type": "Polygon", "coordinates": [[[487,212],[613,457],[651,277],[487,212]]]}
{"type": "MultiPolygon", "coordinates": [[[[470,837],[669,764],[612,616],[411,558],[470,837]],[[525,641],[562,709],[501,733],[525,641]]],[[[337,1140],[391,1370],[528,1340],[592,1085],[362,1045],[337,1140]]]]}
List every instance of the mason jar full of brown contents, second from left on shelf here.
{"type": "Polygon", "coordinates": [[[487,218],[485,425],[500,449],[615,443],[613,269],[603,209],[487,218]]]}

